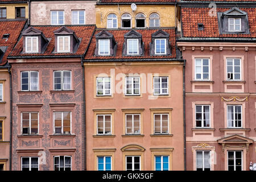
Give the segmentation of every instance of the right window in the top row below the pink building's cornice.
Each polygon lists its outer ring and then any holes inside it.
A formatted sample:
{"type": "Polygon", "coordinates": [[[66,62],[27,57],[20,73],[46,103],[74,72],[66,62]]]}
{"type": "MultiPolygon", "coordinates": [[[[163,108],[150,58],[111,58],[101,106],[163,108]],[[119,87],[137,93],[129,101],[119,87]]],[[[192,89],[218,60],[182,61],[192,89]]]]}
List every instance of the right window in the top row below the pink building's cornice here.
{"type": "Polygon", "coordinates": [[[241,80],[241,59],[226,59],[226,72],[228,80],[241,80]]]}

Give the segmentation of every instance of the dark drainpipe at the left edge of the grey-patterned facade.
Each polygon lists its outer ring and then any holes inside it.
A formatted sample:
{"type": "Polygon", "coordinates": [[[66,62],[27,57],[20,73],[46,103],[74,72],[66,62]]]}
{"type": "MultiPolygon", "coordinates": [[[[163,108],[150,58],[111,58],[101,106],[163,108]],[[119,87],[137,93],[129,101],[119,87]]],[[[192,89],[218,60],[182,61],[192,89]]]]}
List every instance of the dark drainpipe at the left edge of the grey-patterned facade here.
{"type": "Polygon", "coordinates": [[[10,155],[9,155],[9,171],[11,171],[11,154],[12,154],[12,146],[13,146],[13,87],[11,85],[11,71],[10,67],[8,67],[8,73],[10,76],[10,155]]]}

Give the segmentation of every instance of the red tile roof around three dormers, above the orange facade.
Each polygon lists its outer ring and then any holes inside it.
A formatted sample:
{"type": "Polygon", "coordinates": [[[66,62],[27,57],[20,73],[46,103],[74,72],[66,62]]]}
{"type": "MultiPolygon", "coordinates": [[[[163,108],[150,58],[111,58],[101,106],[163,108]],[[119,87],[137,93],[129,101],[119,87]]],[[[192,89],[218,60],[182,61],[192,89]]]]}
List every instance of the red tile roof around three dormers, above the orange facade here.
{"type": "Polygon", "coordinates": [[[151,34],[158,30],[136,30],[140,34],[142,34],[142,41],[144,42],[144,56],[122,56],[122,48],[124,42],[124,36],[130,30],[107,30],[110,34],[113,34],[115,42],[117,42],[117,52],[115,56],[94,56],[94,51],[96,49],[96,38],[95,35],[98,34],[101,30],[97,30],[94,35],[92,42],[90,43],[88,52],[86,53],[85,60],[93,59],[93,60],[108,60],[108,59],[159,59],[159,58],[175,58],[176,57],[176,49],[175,49],[175,30],[174,29],[163,29],[163,31],[167,32],[170,35],[171,42],[171,51],[172,55],[170,56],[150,56],[150,42],[151,42],[151,34]]]}

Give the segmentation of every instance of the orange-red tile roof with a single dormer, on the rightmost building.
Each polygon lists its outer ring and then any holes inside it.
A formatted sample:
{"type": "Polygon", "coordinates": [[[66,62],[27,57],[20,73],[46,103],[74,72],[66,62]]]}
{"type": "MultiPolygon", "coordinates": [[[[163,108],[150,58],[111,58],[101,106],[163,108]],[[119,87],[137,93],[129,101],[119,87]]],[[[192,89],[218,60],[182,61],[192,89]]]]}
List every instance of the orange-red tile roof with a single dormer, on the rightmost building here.
{"type": "MultiPolygon", "coordinates": [[[[217,12],[229,10],[217,8],[217,12]]],[[[241,8],[249,19],[250,34],[220,34],[217,16],[209,16],[210,8],[181,8],[182,32],[184,37],[192,38],[256,38],[256,8],[241,8]],[[198,30],[197,24],[203,23],[204,30],[198,30]]]]}

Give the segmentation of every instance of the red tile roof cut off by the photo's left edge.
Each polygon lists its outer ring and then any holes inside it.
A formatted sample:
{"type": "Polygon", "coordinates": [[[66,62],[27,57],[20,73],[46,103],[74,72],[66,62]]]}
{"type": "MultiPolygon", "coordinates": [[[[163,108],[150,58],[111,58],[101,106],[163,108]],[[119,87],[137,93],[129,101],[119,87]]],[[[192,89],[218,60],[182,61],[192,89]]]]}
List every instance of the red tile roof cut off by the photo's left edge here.
{"type": "Polygon", "coordinates": [[[0,46],[7,46],[5,55],[0,62],[0,65],[5,65],[7,62],[7,56],[18,41],[20,32],[22,31],[26,20],[7,20],[0,22],[0,46]],[[10,34],[9,38],[2,39],[4,34],[10,34]]]}

